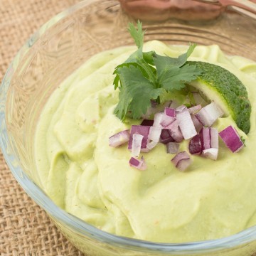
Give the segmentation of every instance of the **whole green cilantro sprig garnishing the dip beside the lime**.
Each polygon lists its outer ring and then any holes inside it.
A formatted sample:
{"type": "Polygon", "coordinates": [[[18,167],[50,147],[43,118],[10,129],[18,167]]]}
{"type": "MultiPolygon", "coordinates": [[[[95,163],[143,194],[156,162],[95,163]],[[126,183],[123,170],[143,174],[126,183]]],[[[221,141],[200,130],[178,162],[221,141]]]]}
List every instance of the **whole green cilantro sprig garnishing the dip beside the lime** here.
{"type": "Polygon", "coordinates": [[[161,102],[164,92],[174,92],[186,87],[187,82],[196,80],[201,70],[196,65],[186,63],[196,44],[189,46],[186,53],[171,58],[154,51],[144,53],[144,33],[142,23],[137,28],[129,23],[129,33],[137,50],[114,70],[114,90],[119,88],[119,102],[114,114],[124,122],[127,114],[139,119],[151,107],[151,100],[161,102]]]}

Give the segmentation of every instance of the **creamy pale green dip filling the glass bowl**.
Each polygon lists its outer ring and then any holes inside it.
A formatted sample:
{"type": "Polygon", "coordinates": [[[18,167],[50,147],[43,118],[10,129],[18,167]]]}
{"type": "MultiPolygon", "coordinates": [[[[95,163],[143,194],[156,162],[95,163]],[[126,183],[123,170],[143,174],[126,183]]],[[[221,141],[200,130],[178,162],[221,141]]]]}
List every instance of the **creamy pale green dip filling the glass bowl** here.
{"type": "MultiPolygon", "coordinates": [[[[178,57],[186,46],[144,44],[144,51],[178,57]]],[[[225,56],[218,46],[197,46],[189,60],[221,65],[247,87],[252,105],[245,148],[233,154],[219,139],[218,160],[191,156],[185,172],[171,164],[174,154],[157,144],[143,153],[145,171],[129,166],[127,145],[109,146],[123,124],[114,114],[119,91],[114,68],[136,48],[99,53],[70,75],[48,100],[38,122],[35,154],[38,183],[61,208],[101,230],[156,242],[223,238],[256,224],[256,63],[225,56]]],[[[176,97],[175,100],[180,100],[176,97]]],[[[182,102],[180,102],[182,103],[182,102]]],[[[231,117],[214,126],[236,127],[231,117]]],[[[186,150],[188,142],[181,144],[186,150]]]]}

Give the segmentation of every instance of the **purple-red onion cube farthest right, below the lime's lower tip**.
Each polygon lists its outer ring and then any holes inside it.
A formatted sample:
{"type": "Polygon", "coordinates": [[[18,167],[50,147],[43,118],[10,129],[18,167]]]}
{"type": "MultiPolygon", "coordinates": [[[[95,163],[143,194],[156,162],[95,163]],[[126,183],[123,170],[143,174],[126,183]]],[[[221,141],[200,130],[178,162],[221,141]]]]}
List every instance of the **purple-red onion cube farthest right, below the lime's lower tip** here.
{"type": "Polygon", "coordinates": [[[244,146],[238,132],[231,125],[223,129],[219,135],[220,138],[223,139],[223,142],[226,144],[226,146],[228,146],[228,148],[233,151],[233,153],[240,151],[240,149],[242,149],[244,146]]]}

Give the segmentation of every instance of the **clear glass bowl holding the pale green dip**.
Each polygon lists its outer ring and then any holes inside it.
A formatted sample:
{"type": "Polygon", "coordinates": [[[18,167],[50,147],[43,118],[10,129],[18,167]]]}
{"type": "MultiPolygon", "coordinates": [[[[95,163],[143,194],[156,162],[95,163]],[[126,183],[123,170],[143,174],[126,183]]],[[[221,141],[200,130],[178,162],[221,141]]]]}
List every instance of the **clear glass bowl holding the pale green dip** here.
{"type": "MultiPolygon", "coordinates": [[[[145,40],[217,43],[229,55],[256,61],[256,4],[252,1],[81,1],[52,18],[21,48],[0,87],[0,144],[18,183],[86,255],[252,255],[256,226],[228,238],[180,244],[105,233],[61,210],[41,190],[33,134],[50,94],[95,53],[133,44],[127,22],[141,18],[145,40]]],[[[256,203],[256,202],[255,202],[256,203]]]]}

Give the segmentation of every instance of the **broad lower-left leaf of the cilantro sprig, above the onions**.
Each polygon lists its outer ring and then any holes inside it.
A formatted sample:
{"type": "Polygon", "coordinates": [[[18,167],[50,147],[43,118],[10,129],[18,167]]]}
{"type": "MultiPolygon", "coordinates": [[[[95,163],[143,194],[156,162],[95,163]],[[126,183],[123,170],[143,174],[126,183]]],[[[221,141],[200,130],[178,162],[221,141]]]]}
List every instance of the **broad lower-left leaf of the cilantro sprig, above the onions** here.
{"type": "Polygon", "coordinates": [[[114,110],[119,119],[124,121],[127,112],[132,112],[134,119],[146,114],[146,110],[151,106],[151,100],[155,100],[161,95],[162,88],[155,88],[154,84],[146,79],[142,72],[130,65],[124,66],[119,74],[122,87],[119,87],[119,103],[114,110]]]}

